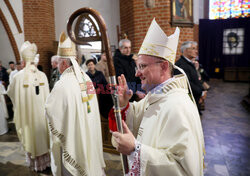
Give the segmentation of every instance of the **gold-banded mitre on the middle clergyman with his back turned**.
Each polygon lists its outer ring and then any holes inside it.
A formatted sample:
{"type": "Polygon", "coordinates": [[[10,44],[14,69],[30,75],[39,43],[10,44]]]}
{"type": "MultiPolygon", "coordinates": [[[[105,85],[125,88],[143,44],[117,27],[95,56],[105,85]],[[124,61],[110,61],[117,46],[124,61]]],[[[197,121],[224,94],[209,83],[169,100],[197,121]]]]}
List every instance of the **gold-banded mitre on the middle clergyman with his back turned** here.
{"type": "Polygon", "coordinates": [[[75,44],[66,36],[64,32],[61,33],[57,55],[60,57],[75,57],[76,47],[75,44]]]}

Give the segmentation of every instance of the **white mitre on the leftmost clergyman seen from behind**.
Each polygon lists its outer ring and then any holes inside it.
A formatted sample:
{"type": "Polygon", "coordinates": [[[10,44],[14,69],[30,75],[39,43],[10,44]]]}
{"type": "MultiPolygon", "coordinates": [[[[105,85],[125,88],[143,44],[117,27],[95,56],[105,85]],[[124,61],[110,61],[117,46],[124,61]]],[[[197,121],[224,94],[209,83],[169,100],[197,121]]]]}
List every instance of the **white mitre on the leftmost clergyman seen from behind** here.
{"type": "Polygon", "coordinates": [[[26,41],[22,44],[20,48],[20,54],[22,56],[22,60],[26,62],[33,62],[37,53],[37,46],[35,43],[30,43],[26,41]]]}

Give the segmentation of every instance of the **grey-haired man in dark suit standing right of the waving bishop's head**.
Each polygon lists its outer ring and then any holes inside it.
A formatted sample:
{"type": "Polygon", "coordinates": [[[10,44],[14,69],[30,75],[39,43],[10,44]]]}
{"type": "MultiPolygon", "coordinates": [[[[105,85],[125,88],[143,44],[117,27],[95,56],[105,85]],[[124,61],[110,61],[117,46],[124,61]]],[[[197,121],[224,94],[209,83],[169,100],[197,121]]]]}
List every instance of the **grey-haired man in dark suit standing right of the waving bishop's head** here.
{"type": "MultiPolygon", "coordinates": [[[[192,59],[196,58],[198,54],[197,43],[193,41],[184,42],[181,45],[181,53],[182,56],[176,62],[176,66],[182,68],[186,73],[194,95],[194,99],[200,112],[200,102],[206,98],[206,91],[204,91],[202,84],[198,79],[197,71],[192,62],[192,59]]],[[[180,74],[180,72],[175,70],[174,74],[180,74]]]]}

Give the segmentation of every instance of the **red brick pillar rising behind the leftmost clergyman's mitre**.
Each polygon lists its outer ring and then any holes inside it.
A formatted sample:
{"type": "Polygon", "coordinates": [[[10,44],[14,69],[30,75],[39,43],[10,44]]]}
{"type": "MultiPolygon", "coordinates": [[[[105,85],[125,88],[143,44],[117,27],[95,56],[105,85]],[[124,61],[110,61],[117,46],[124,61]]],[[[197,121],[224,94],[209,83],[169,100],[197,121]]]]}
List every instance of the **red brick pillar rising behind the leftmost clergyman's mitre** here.
{"type": "Polygon", "coordinates": [[[50,57],[55,54],[55,21],[53,0],[23,0],[24,38],[36,43],[39,64],[49,75],[50,57]]]}

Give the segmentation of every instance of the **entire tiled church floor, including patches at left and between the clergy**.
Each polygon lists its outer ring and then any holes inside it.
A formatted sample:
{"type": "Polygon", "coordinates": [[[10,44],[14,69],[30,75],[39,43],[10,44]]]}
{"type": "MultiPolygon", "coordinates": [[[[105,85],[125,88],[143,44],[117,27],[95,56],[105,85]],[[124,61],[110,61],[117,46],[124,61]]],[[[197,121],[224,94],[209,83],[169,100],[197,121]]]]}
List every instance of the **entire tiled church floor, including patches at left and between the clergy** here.
{"type": "MultiPolygon", "coordinates": [[[[202,124],[206,144],[205,176],[250,175],[250,113],[241,100],[248,94],[247,83],[210,82],[202,124]]],[[[15,134],[13,123],[10,131],[0,136],[0,176],[48,176],[31,172],[15,134]]],[[[121,173],[120,158],[104,153],[105,172],[108,176],[121,173]]]]}

